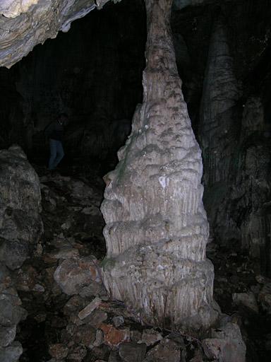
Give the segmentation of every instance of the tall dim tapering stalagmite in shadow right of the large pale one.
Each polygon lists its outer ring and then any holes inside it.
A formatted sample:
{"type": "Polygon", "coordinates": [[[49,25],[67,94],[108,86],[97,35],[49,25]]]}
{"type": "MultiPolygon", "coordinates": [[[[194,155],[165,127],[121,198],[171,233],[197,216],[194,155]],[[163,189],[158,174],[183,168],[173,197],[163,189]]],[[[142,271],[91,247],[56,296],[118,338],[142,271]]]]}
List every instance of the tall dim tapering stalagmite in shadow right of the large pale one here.
{"type": "Polygon", "coordinates": [[[230,145],[234,148],[237,133],[234,105],[239,97],[227,33],[220,20],[215,24],[210,40],[200,112],[200,141],[208,170],[205,173],[207,186],[230,177],[233,152],[230,145]]]}

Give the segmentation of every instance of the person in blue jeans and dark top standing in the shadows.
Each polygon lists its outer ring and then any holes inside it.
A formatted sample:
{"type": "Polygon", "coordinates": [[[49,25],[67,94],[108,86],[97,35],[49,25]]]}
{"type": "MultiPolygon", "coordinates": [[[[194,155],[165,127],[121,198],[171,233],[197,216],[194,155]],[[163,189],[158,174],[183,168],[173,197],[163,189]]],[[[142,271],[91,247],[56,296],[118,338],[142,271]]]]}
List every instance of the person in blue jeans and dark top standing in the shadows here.
{"type": "Polygon", "coordinates": [[[68,116],[61,113],[56,121],[49,124],[45,129],[44,134],[49,138],[50,158],[49,170],[54,170],[59,162],[64,158],[64,149],[62,145],[64,135],[64,125],[68,121],[68,116]]]}

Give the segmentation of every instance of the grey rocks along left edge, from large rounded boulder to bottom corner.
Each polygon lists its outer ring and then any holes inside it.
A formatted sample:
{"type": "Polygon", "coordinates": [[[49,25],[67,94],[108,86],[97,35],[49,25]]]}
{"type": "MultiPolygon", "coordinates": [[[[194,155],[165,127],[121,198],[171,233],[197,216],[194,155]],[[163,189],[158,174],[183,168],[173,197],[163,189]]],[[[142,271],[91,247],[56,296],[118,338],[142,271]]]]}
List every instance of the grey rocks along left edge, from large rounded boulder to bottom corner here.
{"type": "Polygon", "coordinates": [[[13,271],[20,268],[42,233],[40,181],[18,146],[0,151],[0,361],[23,353],[14,341],[26,317],[13,271]]]}

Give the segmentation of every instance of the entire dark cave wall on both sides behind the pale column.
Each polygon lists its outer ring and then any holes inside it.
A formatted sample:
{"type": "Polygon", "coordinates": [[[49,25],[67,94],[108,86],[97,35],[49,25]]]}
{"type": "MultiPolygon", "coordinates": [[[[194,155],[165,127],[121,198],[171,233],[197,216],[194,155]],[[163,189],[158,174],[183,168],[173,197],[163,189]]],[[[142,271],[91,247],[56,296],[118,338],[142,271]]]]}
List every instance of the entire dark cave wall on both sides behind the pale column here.
{"type": "MultiPolygon", "coordinates": [[[[269,1],[194,3],[174,1],[171,27],[211,239],[250,251],[270,274],[269,1]]],[[[143,2],[110,2],[1,68],[1,147],[45,151],[42,129],[64,111],[68,153],[115,155],[141,102],[145,37],[143,2]]]]}

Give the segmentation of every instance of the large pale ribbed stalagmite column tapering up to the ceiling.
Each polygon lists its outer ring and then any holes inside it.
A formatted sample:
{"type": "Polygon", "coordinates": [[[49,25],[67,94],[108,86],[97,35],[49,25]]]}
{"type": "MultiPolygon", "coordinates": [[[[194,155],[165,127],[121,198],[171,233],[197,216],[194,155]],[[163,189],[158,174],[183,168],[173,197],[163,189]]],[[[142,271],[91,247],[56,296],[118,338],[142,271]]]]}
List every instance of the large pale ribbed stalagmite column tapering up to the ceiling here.
{"type": "Polygon", "coordinates": [[[143,321],[193,331],[217,317],[203,166],[176,69],[172,0],[145,3],[144,100],[119,165],[105,177],[103,280],[143,321]]]}

